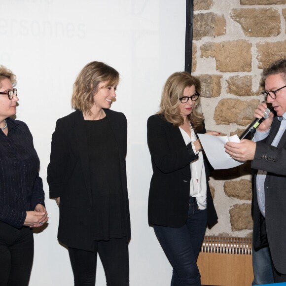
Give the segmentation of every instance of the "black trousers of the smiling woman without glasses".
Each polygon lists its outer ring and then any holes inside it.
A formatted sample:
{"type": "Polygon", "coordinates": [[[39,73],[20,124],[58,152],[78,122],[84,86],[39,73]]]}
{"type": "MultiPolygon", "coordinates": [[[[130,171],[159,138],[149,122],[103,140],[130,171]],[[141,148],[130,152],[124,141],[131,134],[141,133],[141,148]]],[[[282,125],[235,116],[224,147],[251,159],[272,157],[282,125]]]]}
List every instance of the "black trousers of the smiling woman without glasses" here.
{"type": "Polygon", "coordinates": [[[128,286],[129,255],[126,237],[95,241],[94,251],[69,248],[74,285],[95,285],[97,253],[103,264],[107,286],[128,286]]]}

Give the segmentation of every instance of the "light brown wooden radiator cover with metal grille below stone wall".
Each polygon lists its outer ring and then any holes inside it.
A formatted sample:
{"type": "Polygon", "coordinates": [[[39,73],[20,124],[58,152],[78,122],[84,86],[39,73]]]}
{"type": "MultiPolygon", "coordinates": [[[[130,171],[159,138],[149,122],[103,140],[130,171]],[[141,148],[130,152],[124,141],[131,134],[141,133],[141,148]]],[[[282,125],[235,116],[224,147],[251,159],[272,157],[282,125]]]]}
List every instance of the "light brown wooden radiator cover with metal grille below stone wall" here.
{"type": "Polygon", "coordinates": [[[252,239],[205,236],[197,264],[202,285],[250,286],[252,239]]]}

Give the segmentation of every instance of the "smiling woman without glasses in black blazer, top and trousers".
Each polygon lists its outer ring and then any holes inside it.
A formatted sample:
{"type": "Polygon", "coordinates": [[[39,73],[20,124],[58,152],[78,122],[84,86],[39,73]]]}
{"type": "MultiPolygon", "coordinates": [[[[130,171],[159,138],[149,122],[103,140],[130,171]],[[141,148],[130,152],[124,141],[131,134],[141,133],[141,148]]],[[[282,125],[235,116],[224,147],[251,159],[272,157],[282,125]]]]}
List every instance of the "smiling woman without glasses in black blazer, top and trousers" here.
{"type": "Polygon", "coordinates": [[[73,85],[70,115],[57,121],[47,181],[60,208],[58,239],[69,248],[75,286],[94,286],[97,253],[107,286],[129,285],[127,121],[109,110],[119,74],[87,64],[73,85]]]}

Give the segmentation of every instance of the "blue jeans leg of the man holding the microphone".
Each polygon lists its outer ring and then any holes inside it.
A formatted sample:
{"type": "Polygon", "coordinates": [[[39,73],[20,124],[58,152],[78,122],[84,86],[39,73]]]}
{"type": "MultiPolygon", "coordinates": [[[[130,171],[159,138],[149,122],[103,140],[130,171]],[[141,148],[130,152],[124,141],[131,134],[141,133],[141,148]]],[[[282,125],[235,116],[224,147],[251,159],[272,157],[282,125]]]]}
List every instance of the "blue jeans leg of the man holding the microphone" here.
{"type": "Polygon", "coordinates": [[[259,250],[252,247],[252,267],[254,274],[252,285],[274,283],[272,260],[268,246],[259,250]]]}

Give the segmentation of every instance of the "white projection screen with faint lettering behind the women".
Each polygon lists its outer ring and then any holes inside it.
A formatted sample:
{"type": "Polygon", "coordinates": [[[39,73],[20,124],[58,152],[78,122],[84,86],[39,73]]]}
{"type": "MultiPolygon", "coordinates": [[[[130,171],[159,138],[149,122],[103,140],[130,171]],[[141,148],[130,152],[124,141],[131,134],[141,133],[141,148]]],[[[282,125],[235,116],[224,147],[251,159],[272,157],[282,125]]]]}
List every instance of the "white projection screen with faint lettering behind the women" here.
{"type": "MultiPolygon", "coordinates": [[[[167,77],[184,69],[185,6],[185,0],[0,0],[0,64],[17,75],[17,119],[33,134],[49,214],[47,227],[35,231],[30,286],[73,285],[46,169],[56,120],[72,112],[72,84],[91,61],[107,63],[121,78],[111,109],[128,120],[130,285],[170,285],[171,265],[147,221],[146,121],[158,110],[167,77]]],[[[106,285],[99,259],[96,285],[106,285]]]]}

